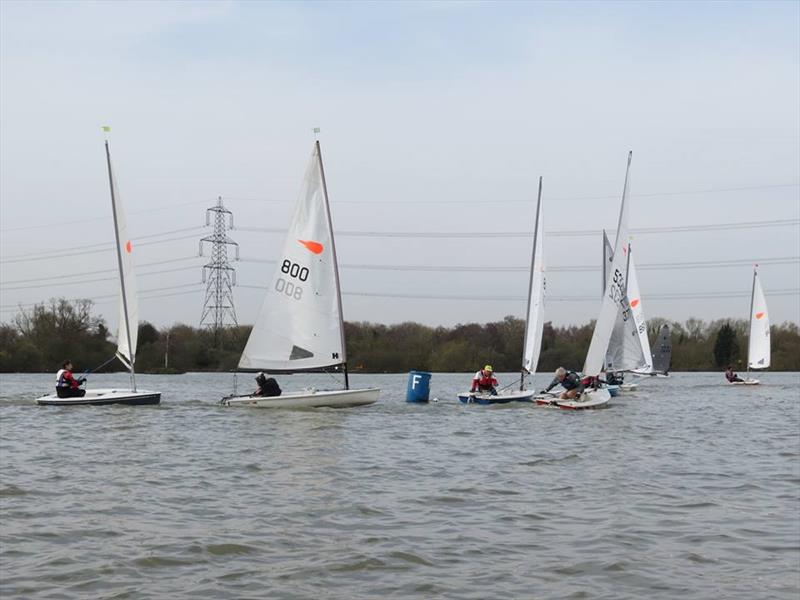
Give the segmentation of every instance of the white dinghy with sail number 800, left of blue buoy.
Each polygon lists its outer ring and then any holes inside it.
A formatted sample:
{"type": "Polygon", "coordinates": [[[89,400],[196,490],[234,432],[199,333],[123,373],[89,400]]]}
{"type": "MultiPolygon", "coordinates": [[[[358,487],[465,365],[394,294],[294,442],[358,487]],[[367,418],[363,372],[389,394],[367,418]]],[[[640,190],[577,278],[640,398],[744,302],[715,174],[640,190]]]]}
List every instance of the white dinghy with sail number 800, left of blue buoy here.
{"type": "Polygon", "coordinates": [[[341,368],[344,389],[280,396],[228,396],[225,406],[257,408],[350,407],[377,402],[378,388],[351,390],[342,316],[339,268],[319,141],[275,274],[250,332],[239,371],[299,373],[341,368]]]}

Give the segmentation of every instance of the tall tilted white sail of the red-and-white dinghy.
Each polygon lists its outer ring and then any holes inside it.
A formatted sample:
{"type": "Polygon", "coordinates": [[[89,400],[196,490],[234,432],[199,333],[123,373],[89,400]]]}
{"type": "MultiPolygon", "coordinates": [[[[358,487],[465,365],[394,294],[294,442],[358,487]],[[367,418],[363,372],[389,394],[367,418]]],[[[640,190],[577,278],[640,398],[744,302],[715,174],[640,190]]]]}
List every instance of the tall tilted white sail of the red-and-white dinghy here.
{"type": "MultiPolygon", "coordinates": [[[[603,362],[606,351],[609,347],[611,334],[617,319],[617,314],[621,315],[622,325],[625,336],[638,338],[638,331],[630,314],[630,305],[625,293],[627,263],[628,263],[628,196],[629,196],[629,175],[631,158],[633,153],[628,154],[628,167],[625,172],[625,185],[622,190],[622,204],[619,211],[619,223],[617,225],[617,237],[614,242],[614,258],[611,262],[608,277],[606,279],[605,294],[603,303],[600,307],[600,315],[595,323],[592,341],[589,343],[589,351],[586,354],[586,362],[583,366],[584,375],[597,376],[603,370],[603,362]]],[[[637,342],[638,345],[638,342],[637,342]]],[[[614,369],[633,369],[641,366],[637,365],[614,365],[614,369]]]]}

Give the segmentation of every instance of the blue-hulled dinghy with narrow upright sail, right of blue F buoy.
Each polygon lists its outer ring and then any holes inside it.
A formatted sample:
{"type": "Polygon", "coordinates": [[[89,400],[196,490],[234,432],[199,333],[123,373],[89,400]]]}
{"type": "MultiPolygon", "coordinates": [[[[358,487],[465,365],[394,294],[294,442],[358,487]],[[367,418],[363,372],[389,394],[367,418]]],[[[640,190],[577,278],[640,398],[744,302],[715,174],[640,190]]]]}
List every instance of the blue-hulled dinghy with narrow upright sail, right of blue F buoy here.
{"type": "Polygon", "coordinates": [[[542,178],[539,177],[539,194],[536,201],[536,220],[533,228],[533,250],[531,251],[531,270],[528,281],[528,310],[525,317],[525,342],[522,349],[519,390],[501,392],[496,395],[464,392],[458,395],[458,399],[465,404],[527,402],[536,393],[525,389],[525,377],[536,372],[536,365],[539,364],[539,353],[542,348],[545,290],[543,239],[542,178]]]}

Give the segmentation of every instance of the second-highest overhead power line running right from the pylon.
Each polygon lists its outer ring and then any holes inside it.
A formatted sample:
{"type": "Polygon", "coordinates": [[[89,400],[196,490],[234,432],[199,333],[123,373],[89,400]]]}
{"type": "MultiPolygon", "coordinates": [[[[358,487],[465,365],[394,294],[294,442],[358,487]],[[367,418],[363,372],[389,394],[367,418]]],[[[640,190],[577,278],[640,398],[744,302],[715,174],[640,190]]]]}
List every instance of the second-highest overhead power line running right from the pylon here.
{"type": "MultiPolygon", "coordinates": [[[[800,219],[778,219],[772,221],[748,221],[742,223],[716,223],[710,225],[681,225],[675,227],[646,227],[631,229],[631,234],[647,235],[657,233],[686,233],[695,231],[725,231],[733,229],[762,229],[767,227],[788,227],[800,225],[800,219]]],[[[237,231],[250,233],[286,233],[286,229],[277,227],[239,227],[237,231]]],[[[582,237],[595,236],[602,233],[602,229],[577,229],[572,231],[545,231],[547,237],[582,237]]],[[[375,238],[433,238],[433,239],[461,239],[461,238],[509,238],[533,236],[532,231],[337,231],[337,237],[375,237],[375,238]]]]}

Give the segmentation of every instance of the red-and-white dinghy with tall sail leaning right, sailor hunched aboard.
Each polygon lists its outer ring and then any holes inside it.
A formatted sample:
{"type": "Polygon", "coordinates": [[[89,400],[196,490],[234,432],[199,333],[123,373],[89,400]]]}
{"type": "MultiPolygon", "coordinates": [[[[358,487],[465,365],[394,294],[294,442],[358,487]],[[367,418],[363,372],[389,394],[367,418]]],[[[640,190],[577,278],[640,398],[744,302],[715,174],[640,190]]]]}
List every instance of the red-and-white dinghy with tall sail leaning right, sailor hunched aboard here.
{"type": "MultiPolygon", "coordinates": [[[[606,355],[609,349],[614,330],[623,336],[623,347],[633,347],[630,340],[638,340],[638,330],[631,314],[630,302],[627,295],[628,261],[628,195],[629,176],[633,152],[628,153],[628,166],[625,171],[625,184],[622,188],[622,203],[619,210],[619,223],[617,236],[614,242],[613,255],[603,286],[603,301],[600,306],[600,315],[592,332],[592,341],[586,353],[586,362],[583,365],[584,377],[596,378],[603,371],[606,355]]],[[[638,341],[636,342],[638,347],[638,341]]],[[[641,352],[641,349],[639,349],[641,352]]],[[[627,360],[624,358],[619,360],[627,360]]],[[[600,408],[608,404],[611,398],[607,388],[587,388],[580,398],[575,400],[561,400],[552,398],[537,398],[538,404],[555,405],[566,409],[600,408]]]]}

